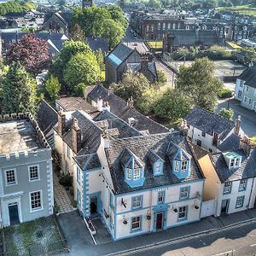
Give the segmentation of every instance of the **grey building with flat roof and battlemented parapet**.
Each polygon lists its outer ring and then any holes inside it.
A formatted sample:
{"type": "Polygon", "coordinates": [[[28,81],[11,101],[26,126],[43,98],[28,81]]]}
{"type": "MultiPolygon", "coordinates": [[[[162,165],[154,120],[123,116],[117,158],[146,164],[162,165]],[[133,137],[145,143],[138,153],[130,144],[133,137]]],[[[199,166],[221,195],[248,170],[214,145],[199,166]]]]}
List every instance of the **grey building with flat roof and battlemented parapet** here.
{"type": "Polygon", "coordinates": [[[0,115],[0,225],[53,214],[51,148],[30,113],[0,115]]]}

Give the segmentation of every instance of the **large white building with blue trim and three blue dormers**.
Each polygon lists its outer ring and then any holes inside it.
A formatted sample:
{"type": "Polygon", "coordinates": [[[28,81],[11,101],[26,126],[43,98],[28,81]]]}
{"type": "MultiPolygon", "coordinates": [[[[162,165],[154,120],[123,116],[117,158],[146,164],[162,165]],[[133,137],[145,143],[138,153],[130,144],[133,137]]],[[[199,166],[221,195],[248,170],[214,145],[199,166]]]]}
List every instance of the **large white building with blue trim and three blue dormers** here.
{"type": "Polygon", "coordinates": [[[101,216],[114,241],[199,221],[204,177],[187,138],[154,121],[137,130],[98,104],[60,112],[55,128],[83,216],[101,216]]]}

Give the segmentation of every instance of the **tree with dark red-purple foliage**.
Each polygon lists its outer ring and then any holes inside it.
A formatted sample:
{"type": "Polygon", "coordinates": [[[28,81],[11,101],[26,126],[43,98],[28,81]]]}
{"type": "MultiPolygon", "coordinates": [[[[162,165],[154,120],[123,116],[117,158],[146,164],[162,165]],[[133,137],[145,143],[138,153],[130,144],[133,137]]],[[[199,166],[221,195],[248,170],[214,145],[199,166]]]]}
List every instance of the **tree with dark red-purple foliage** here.
{"type": "Polygon", "coordinates": [[[33,75],[41,73],[50,64],[47,41],[37,38],[34,33],[23,36],[6,53],[6,63],[11,64],[13,61],[20,61],[26,71],[33,75]]]}

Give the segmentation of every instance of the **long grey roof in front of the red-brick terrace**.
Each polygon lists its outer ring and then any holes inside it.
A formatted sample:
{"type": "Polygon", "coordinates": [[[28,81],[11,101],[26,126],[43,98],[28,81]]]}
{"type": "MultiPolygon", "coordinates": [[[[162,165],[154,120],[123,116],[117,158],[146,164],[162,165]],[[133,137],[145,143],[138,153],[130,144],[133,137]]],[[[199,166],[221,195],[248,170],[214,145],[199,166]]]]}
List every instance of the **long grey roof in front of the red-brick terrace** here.
{"type": "Polygon", "coordinates": [[[198,43],[204,45],[218,44],[217,32],[214,30],[172,30],[168,35],[172,40],[172,46],[190,46],[198,43]]]}

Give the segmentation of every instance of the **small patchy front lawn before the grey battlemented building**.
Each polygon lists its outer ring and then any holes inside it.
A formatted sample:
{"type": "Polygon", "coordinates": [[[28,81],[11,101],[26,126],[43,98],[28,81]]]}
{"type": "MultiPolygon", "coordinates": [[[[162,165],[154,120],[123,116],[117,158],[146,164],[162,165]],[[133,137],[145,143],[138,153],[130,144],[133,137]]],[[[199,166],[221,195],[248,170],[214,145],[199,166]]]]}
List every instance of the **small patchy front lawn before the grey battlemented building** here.
{"type": "Polygon", "coordinates": [[[64,242],[52,217],[10,226],[4,231],[7,255],[41,255],[60,252],[64,242]]]}

